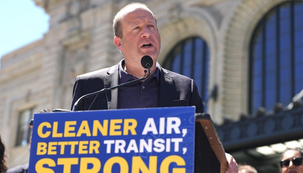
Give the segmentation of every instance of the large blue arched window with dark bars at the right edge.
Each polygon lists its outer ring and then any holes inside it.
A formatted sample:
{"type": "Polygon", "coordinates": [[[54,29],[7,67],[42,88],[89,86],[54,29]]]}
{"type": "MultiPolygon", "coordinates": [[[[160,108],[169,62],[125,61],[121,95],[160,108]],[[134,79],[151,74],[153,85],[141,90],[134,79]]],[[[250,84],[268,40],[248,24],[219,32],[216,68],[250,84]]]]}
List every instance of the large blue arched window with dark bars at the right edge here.
{"type": "Polygon", "coordinates": [[[303,2],[271,9],[257,25],[250,45],[249,112],[287,106],[303,89],[303,2]]]}

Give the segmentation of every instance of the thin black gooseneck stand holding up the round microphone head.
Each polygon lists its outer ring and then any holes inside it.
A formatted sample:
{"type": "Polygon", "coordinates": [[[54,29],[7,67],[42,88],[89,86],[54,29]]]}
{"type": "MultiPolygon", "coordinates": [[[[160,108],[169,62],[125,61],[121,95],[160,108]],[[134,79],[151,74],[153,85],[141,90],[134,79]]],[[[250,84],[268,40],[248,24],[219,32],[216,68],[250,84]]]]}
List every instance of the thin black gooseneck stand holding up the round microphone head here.
{"type": "MultiPolygon", "coordinates": [[[[149,66],[149,65],[147,65],[147,68],[148,68],[148,74],[147,74],[147,76],[145,76],[145,77],[143,76],[143,77],[141,77],[140,79],[136,79],[136,80],[132,80],[132,81],[129,81],[129,82],[126,82],[126,83],[122,83],[122,84],[117,85],[117,86],[114,86],[114,87],[104,88],[104,89],[102,89],[102,90],[99,90],[99,91],[96,91],[96,92],[93,92],[93,93],[89,93],[89,94],[86,94],[86,95],[80,97],[80,98],[75,102],[72,111],[77,111],[77,110],[78,110],[78,103],[79,103],[80,101],[82,101],[83,99],[87,98],[87,97],[91,97],[91,96],[94,96],[94,95],[96,95],[96,94],[104,93],[104,92],[109,91],[109,90],[114,90],[114,89],[117,89],[117,88],[119,88],[119,87],[123,87],[123,86],[125,86],[125,85],[129,85],[129,84],[132,84],[132,83],[141,81],[141,80],[145,80],[146,78],[149,77],[150,72],[151,72],[150,66],[149,66]]],[[[146,70],[144,70],[144,72],[146,73],[146,70]]],[[[97,97],[97,96],[96,96],[96,97],[97,97]]],[[[93,102],[94,102],[94,101],[95,101],[95,100],[93,100],[93,102]]],[[[91,103],[91,105],[93,104],[93,102],[91,103]]],[[[88,109],[88,110],[89,110],[89,109],[88,109]]]]}

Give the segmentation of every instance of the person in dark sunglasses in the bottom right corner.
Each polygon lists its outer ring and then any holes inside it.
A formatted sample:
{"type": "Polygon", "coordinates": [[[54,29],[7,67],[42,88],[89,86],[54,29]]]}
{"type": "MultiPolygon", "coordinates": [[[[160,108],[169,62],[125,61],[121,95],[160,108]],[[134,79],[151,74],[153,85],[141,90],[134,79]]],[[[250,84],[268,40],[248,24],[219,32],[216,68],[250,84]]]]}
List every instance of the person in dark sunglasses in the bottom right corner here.
{"type": "Polygon", "coordinates": [[[303,173],[303,151],[299,148],[288,149],[281,155],[282,173],[303,173]]]}

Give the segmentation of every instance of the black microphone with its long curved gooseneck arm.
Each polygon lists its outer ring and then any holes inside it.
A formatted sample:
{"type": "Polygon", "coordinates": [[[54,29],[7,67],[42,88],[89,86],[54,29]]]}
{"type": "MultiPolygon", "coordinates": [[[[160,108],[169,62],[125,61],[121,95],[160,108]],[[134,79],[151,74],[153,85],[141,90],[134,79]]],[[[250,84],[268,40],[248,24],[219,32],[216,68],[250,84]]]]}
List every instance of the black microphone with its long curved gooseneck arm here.
{"type": "MultiPolygon", "coordinates": [[[[104,89],[102,89],[102,90],[99,90],[99,91],[96,91],[96,92],[93,92],[93,93],[88,93],[88,94],[86,94],[86,95],[80,97],[80,98],[75,102],[75,104],[74,104],[74,106],[73,106],[73,111],[78,110],[78,103],[79,103],[80,101],[82,101],[83,99],[87,98],[87,97],[91,97],[91,96],[96,95],[95,99],[92,101],[91,105],[90,105],[89,108],[88,108],[88,110],[90,110],[90,108],[91,108],[92,104],[94,103],[94,101],[96,100],[98,94],[104,93],[104,92],[106,92],[106,91],[108,91],[108,90],[115,90],[115,89],[117,89],[117,88],[119,88],[119,87],[123,87],[123,86],[129,85],[129,84],[132,84],[132,83],[135,83],[135,82],[138,82],[138,81],[147,79],[147,78],[149,77],[149,75],[150,75],[150,72],[151,72],[150,67],[153,65],[153,60],[152,60],[152,58],[151,58],[150,56],[148,56],[148,55],[143,56],[143,57],[141,58],[141,65],[142,65],[145,69],[148,69],[148,74],[147,74],[147,76],[144,75],[144,76],[141,77],[140,79],[136,79],[136,80],[132,80],[132,81],[129,81],[129,82],[126,82],[126,83],[122,83],[122,84],[117,85],[117,86],[114,86],[114,87],[104,88],[104,89]]],[[[146,73],[146,72],[147,72],[147,71],[144,70],[144,73],[146,73]]]]}

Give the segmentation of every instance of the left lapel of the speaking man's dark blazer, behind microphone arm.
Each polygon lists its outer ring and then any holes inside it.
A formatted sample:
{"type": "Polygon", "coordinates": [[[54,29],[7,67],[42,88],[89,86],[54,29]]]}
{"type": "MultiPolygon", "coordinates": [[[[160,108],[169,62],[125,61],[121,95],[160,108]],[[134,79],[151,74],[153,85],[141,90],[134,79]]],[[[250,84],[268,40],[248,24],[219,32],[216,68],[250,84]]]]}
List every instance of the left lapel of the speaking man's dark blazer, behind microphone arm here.
{"type": "MultiPolygon", "coordinates": [[[[104,88],[110,88],[119,83],[119,64],[108,69],[109,75],[103,77],[104,88]]],[[[118,89],[106,91],[107,108],[118,109],[118,89]]]]}

